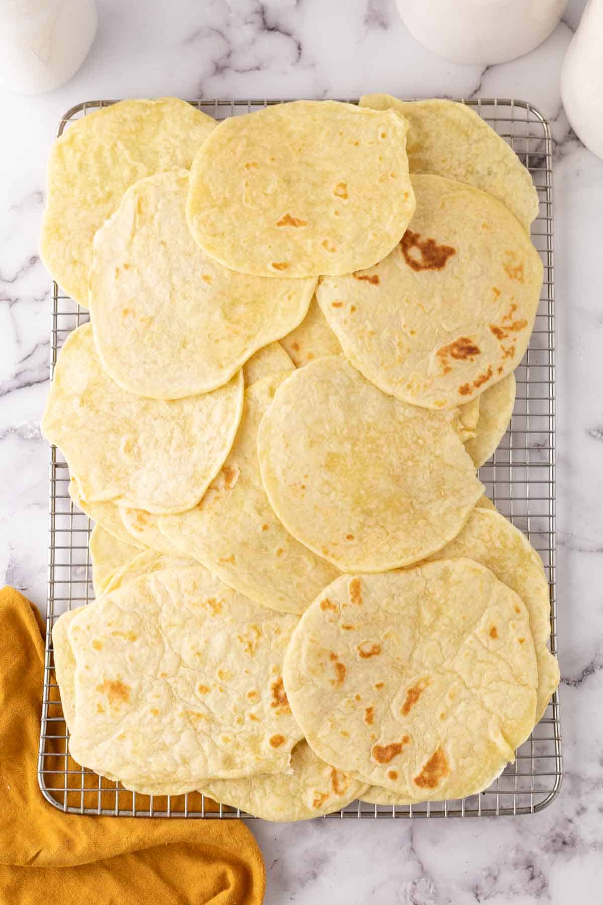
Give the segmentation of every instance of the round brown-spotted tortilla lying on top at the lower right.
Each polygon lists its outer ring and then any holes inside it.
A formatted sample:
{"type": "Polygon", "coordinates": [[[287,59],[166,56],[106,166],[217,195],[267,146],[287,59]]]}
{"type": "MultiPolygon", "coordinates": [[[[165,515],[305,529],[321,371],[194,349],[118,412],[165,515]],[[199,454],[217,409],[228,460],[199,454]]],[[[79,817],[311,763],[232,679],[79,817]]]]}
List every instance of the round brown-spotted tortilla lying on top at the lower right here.
{"type": "Polygon", "coordinates": [[[484,789],[536,709],[527,610],[469,559],[337,578],[301,617],[283,680],[318,757],[404,801],[484,789]]]}

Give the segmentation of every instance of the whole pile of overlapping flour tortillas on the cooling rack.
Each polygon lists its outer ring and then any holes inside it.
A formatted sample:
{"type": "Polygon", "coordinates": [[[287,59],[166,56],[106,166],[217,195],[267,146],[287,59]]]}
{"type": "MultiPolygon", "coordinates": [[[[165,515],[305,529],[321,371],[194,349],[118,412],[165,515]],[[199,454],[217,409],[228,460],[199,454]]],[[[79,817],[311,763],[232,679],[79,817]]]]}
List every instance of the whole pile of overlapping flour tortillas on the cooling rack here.
{"type": "Polygon", "coordinates": [[[559,681],[549,586],[476,467],[537,211],[451,101],[130,100],[57,140],[42,256],[90,308],[42,421],[96,522],[97,599],[52,633],[80,764],[299,820],[513,761],[559,681]]]}

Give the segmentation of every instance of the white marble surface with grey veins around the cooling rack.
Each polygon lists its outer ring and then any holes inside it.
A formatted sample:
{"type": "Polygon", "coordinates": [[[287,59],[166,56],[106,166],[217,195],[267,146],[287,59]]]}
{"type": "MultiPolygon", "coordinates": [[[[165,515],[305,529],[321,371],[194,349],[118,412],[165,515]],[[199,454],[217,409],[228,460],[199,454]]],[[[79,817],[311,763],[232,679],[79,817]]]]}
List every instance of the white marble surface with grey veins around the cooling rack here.
{"type": "MultiPolygon", "coordinates": [[[[558,599],[565,780],[542,814],[466,821],[251,824],[268,905],[601,901],[603,884],[603,162],[570,132],[559,74],[583,0],[521,60],[460,67],[423,51],[393,0],[99,0],[87,62],[36,99],[0,93],[0,579],[44,604],[48,277],[37,255],[44,165],[80,100],[504,96],[555,138],[558,599]]],[[[601,36],[603,41],[603,35],[601,36]]],[[[1,630],[1,629],[0,629],[1,630]]]]}

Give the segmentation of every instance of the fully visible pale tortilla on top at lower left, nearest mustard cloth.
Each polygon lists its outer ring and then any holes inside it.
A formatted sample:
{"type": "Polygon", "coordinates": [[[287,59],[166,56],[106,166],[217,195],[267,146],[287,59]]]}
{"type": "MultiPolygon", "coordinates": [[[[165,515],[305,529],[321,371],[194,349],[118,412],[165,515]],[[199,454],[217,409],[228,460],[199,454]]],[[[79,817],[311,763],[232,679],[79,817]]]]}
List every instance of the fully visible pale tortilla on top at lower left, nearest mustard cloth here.
{"type": "Polygon", "coordinates": [[[104,595],[67,631],[72,757],[101,776],[173,795],[208,776],[288,772],[302,734],[281,669],[296,624],[199,566],[104,595]]]}

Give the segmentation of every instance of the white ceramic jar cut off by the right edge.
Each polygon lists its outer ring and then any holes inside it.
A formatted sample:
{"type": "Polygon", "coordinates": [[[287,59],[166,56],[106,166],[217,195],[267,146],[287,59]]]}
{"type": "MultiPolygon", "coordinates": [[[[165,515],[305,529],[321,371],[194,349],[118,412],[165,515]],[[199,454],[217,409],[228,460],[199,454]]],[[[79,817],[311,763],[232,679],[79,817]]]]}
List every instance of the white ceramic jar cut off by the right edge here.
{"type": "Polygon", "coordinates": [[[580,141],[603,160],[603,0],[589,0],[571,39],[561,100],[580,141]]]}

